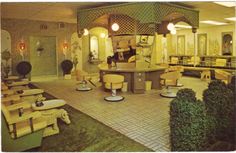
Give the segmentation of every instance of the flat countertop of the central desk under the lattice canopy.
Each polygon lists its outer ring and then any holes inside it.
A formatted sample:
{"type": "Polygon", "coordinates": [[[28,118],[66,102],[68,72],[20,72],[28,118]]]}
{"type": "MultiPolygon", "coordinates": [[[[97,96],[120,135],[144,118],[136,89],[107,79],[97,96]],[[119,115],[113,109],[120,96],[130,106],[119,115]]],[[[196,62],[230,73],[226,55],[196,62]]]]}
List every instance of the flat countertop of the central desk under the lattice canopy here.
{"type": "Polygon", "coordinates": [[[150,68],[117,68],[117,67],[108,68],[108,66],[106,65],[99,67],[99,70],[109,71],[109,72],[151,72],[165,69],[166,69],[165,67],[161,66],[152,66],[150,68]]]}

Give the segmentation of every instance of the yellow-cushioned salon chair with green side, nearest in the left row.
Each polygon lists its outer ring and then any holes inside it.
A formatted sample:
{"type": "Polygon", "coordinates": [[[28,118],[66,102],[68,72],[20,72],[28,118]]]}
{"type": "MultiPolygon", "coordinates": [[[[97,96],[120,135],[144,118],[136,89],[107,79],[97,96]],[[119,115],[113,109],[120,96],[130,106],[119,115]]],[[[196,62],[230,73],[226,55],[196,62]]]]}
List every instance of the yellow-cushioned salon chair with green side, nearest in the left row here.
{"type": "Polygon", "coordinates": [[[24,112],[30,104],[2,103],[2,151],[20,152],[39,147],[43,138],[43,130],[47,126],[41,113],[24,112]]]}

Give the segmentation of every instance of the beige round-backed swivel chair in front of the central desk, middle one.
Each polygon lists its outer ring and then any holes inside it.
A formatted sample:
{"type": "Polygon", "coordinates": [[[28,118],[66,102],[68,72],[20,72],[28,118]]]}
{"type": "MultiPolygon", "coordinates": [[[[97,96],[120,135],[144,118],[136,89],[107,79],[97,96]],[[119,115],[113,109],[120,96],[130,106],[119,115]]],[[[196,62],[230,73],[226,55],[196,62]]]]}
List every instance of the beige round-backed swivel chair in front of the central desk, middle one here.
{"type": "Polygon", "coordinates": [[[106,101],[118,102],[122,101],[124,97],[117,96],[116,90],[123,87],[124,76],[117,74],[106,74],[103,76],[104,87],[111,90],[111,96],[105,97],[106,101]]]}

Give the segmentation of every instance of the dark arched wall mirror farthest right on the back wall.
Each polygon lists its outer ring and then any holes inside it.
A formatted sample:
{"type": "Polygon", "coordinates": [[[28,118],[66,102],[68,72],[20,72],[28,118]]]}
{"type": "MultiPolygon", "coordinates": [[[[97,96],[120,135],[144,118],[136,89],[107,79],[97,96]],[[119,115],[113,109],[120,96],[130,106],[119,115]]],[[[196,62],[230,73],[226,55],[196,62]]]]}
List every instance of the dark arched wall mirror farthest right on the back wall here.
{"type": "Polygon", "coordinates": [[[222,33],[222,55],[232,55],[233,33],[222,33]]]}

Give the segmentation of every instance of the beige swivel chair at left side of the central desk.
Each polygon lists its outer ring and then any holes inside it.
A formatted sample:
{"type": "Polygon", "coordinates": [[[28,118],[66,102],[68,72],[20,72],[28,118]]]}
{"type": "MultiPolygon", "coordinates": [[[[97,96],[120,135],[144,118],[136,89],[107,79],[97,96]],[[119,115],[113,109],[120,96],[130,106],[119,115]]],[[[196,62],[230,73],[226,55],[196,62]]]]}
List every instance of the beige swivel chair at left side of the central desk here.
{"type": "Polygon", "coordinates": [[[96,85],[92,82],[92,77],[85,71],[76,70],[76,80],[79,81],[79,86],[76,87],[77,91],[90,91],[91,87],[88,87],[88,82],[91,83],[94,87],[96,85]]]}

